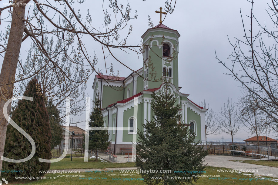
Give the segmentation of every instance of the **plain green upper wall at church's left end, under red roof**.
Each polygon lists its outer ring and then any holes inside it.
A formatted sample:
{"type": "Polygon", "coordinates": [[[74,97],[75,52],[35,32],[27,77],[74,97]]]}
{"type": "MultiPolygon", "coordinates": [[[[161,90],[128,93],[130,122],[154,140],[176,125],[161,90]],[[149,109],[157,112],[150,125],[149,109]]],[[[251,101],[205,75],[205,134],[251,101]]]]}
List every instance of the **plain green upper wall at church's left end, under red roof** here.
{"type": "Polygon", "coordinates": [[[113,86],[111,88],[108,85],[104,85],[102,91],[102,108],[106,108],[108,105],[123,99],[123,89],[121,87],[113,86]]]}

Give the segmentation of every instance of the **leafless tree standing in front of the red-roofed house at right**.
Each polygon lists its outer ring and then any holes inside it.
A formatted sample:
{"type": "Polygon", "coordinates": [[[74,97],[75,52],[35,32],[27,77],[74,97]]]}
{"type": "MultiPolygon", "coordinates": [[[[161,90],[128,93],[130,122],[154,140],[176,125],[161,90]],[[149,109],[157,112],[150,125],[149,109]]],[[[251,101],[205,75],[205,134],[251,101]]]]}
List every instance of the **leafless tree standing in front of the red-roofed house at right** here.
{"type": "Polygon", "coordinates": [[[247,93],[239,101],[239,120],[249,129],[251,135],[257,137],[257,145],[259,146],[259,136],[267,130],[267,117],[263,111],[259,109],[257,98],[253,93],[247,93]]]}

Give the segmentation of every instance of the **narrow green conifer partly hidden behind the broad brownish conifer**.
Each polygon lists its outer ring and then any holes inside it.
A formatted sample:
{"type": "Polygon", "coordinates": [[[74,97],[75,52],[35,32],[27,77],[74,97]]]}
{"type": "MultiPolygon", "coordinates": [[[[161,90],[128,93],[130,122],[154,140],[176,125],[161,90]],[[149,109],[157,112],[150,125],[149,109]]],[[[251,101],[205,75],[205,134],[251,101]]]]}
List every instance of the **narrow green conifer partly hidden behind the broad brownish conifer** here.
{"type": "Polygon", "coordinates": [[[49,125],[51,128],[51,150],[61,144],[63,138],[63,129],[60,119],[60,112],[51,100],[47,101],[46,109],[49,115],[49,125]]]}

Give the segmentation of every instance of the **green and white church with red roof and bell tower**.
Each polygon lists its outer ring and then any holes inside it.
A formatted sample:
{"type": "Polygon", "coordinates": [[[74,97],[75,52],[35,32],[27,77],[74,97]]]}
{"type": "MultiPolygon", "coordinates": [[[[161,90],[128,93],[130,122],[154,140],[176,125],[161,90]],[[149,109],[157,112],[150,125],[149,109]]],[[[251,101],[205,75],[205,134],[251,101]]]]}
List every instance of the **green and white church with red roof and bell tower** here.
{"type": "MultiPolygon", "coordinates": [[[[158,12],[160,13],[160,12],[158,12]]],[[[145,46],[142,68],[127,77],[95,75],[92,88],[94,98],[99,94],[105,127],[112,127],[110,146],[118,154],[122,147],[132,147],[133,134],[143,130],[142,125],[152,119],[151,103],[153,91],[158,93],[165,88],[163,80],[170,79],[170,91],[180,104],[181,122],[194,130],[196,140],[205,140],[205,112],[189,100],[189,94],[180,92],[179,87],[179,32],[162,24],[149,28],[143,35],[145,46]],[[128,130],[116,130],[128,127],[128,130]]],[[[185,59],[183,59],[185,60],[185,59]]],[[[138,137],[138,135],[137,135],[138,137]]]]}

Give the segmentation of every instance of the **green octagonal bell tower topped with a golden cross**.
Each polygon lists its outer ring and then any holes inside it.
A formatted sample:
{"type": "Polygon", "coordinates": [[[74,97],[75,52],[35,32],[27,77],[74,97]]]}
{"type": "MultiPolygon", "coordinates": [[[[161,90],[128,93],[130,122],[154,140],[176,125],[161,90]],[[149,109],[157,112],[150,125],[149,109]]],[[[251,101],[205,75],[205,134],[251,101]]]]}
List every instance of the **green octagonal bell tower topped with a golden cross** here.
{"type": "Polygon", "coordinates": [[[159,25],[149,28],[143,35],[144,77],[143,89],[158,88],[161,79],[170,78],[170,82],[179,89],[178,53],[179,32],[162,24],[160,7],[159,25]]]}

